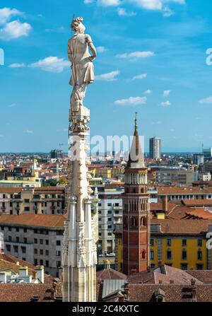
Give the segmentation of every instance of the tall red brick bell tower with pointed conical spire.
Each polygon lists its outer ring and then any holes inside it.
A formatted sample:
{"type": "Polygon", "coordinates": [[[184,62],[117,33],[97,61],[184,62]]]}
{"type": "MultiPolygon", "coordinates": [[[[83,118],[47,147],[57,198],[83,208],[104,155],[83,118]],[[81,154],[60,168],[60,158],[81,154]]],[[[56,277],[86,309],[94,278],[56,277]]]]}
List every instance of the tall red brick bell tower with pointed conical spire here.
{"type": "MultiPolygon", "coordinates": [[[[136,113],[137,115],[137,113],[136,113]]],[[[124,174],[123,272],[132,274],[150,266],[150,201],[147,168],[139,143],[137,117],[124,174]]]]}

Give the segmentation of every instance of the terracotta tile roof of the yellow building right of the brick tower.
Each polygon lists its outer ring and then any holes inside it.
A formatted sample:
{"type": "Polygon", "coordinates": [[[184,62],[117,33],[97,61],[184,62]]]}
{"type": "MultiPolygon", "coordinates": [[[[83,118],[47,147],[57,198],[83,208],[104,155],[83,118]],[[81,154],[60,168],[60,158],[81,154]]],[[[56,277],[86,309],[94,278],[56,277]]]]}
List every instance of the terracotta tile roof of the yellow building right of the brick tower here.
{"type": "Polygon", "coordinates": [[[151,234],[158,234],[153,232],[153,225],[158,224],[161,227],[161,233],[163,234],[202,234],[208,231],[208,224],[212,224],[212,220],[188,220],[181,219],[179,221],[173,219],[158,220],[153,218],[151,221],[151,234]]]}

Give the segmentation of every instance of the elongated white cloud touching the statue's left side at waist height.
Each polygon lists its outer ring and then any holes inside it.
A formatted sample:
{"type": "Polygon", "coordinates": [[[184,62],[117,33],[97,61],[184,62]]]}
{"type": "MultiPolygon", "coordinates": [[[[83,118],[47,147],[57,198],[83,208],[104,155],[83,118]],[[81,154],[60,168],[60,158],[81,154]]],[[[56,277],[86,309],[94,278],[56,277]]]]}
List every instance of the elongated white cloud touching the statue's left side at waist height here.
{"type": "Polygon", "coordinates": [[[70,62],[64,60],[64,58],[46,57],[45,59],[40,59],[38,62],[30,64],[30,67],[59,73],[64,71],[64,68],[70,67],[70,62]]]}

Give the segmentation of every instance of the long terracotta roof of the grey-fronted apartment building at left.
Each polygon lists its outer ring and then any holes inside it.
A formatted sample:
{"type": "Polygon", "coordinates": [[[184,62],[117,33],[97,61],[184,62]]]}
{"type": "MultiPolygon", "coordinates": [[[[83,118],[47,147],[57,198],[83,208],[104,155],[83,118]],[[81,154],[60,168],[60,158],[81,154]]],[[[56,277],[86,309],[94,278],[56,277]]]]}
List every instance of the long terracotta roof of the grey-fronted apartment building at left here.
{"type": "Polygon", "coordinates": [[[0,225],[21,225],[32,227],[64,228],[64,215],[20,214],[0,215],[0,225]]]}

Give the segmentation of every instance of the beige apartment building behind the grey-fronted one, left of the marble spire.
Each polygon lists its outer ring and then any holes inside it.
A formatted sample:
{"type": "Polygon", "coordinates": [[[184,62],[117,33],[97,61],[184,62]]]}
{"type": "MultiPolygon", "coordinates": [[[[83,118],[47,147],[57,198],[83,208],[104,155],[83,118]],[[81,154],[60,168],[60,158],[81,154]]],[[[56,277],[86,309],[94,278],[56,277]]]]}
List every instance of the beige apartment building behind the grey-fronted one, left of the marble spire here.
{"type": "Polygon", "coordinates": [[[63,214],[65,187],[0,187],[0,214],[63,214]]]}

